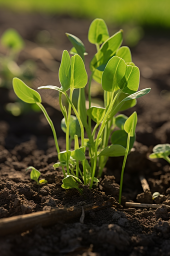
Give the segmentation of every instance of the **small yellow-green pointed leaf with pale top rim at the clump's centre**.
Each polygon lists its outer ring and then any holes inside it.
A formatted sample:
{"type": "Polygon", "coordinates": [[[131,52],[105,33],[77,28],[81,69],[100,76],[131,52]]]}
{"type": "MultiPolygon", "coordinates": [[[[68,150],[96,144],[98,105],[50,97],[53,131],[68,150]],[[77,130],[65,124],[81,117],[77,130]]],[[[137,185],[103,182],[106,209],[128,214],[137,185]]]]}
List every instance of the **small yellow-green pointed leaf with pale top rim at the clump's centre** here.
{"type": "Polygon", "coordinates": [[[87,109],[87,115],[97,124],[102,122],[105,115],[105,108],[92,106],[87,109]]]}

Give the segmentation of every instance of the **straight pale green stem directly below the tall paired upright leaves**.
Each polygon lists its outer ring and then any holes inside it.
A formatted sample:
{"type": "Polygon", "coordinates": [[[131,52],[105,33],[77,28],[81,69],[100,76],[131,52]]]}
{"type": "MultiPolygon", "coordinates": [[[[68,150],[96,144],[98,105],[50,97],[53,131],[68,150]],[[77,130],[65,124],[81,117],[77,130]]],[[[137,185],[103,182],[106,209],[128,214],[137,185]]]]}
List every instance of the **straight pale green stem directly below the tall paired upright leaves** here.
{"type": "MultiPolygon", "coordinates": [[[[69,91],[69,100],[72,101],[72,92],[73,92],[73,89],[70,88],[70,91],[69,91]]],[[[65,93],[66,94],[66,93],[65,93]]],[[[71,115],[71,104],[68,103],[68,116],[67,116],[67,122],[66,122],[66,137],[65,137],[65,140],[66,140],[66,171],[67,171],[67,174],[69,175],[69,154],[68,154],[68,151],[69,151],[69,122],[70,122],[70,115],[71,115]]]]}

